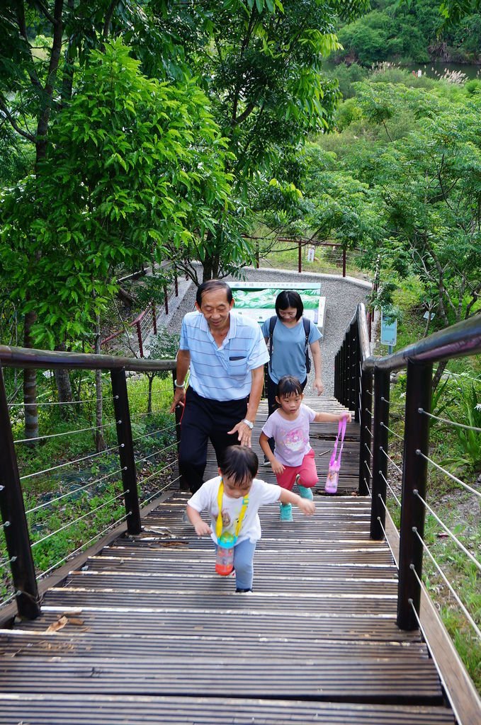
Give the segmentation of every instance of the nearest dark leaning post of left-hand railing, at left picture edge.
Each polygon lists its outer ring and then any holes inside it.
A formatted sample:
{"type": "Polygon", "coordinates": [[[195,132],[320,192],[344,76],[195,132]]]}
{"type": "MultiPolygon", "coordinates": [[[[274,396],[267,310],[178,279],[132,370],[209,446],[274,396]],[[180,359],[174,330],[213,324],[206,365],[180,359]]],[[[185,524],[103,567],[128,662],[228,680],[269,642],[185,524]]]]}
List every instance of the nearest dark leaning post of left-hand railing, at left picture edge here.
{"type": "Polygon", "coordinates": [[[17,592],[17,609],[21,617],[35,619],[40,614],[40,597],[1,367],[0,429],[0,511],[13,585],[17,592]]]}

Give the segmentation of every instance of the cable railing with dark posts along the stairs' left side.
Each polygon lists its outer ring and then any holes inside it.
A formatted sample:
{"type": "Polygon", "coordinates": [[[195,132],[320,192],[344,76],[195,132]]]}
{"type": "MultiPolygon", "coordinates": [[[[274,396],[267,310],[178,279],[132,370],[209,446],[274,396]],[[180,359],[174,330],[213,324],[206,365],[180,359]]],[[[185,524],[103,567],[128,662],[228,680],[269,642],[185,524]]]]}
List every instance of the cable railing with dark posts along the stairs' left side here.
{"type": "MultiPolygon", "coordinates": [[[[44,403],[44,413],[41,415],[40,425],[47,428],[45,433],[39,431],[29,439],[17,434],[14,442],[14,436],[10,432],[12,447],[9,450],[12,451],[12,457],[7,460],[7,468],[9,466],[6,474],[7,483],[12,487],[17,486],[19,492],[20,486],[25,487],[25,500],[28,500],[29,505],[23,507],[25,523],[21,523],[22,516],[17,516],[15,510],[12,510],[12,514],[7,517],[4,515],[4,521],[0,523],[0,530],[9,532],[5,543],[0,541],[0,568],[3,568],[5,572],[9,566],[12,567],[15,593],[9,597],[9,601],[16,598],[19,612],[22,613],[22,616],[27,617],[38,614],[39,600],[35,586],[38,579],[47,576],[61,563],[85,549],[91,542],[98,541],[99,537],[118,526],[122,521],[126,522],[129,534],[138,534],[141,531],[139,498],[144,503],[150,502],[172,485],[170,474],[176,460],[172,453],[178,445],[178,421],[174,423],[171,418],[170,421],[167,420],[167,411],[173,395],[172,383],[169,387],[165,378],[155,378],[157,383],[152,388],[152,381],[149,381],[147,386],[144,384],[144,380],[137,375],[136,380],[129,380],[127,386],[125,373],[125,370],[129,369],[136,373],[146,370],[170,371],[175,368],[173,361],[147,361],[77,353],[33,352],[35,353],[33,366],[37,368],[50,369],[56,366],[75,368],[78,366],[94,369],[98,363],[99,368],[110,370],[112,389],[110,395],[104,392],[102,397],[96,395],[80,397],[75,401],[73,410],[70,408],[72,405],[70,402],[39,400],[39,404],[44,403]],[[140,389],[138,397],[135,395],[137,389],[140,389]],[[156,406],[155,410],[144,413],[139,410],[139,407],[144,405],[147,395],[152,392],[157,399],[165,400],[165,407],[161,403],[156,406]],[[129,406],[128,398],[131,396],[129,406]],[[135,403],[132,402],[133,399],[136,399],[135,403]],[[85,423],[89,423],[92,413],[87,410],[83,412],[82,406],[92,404],[97,407],[96,416],[99,415],[100,410],[101,417],[96,420],[95,425],[91,423],[86,425],[85,423]],[[57,432],[54,426],[59,425],[58,411],[61,411],[64,406],[69,410],[69,417],[75,418],[75,422],[78,421],[80,424],[70,426],[68,431],[57,432]],[[131,416],[130,407],[132,407],[133,413],[131,416]],[[137,419],[136,436],[134,437],[131,434],[133,418],[137,419]],[[112,428],[117,434],[115,444],[110,435],[112,428]],[[106,444],[106,446],[104,450],[92,452],[89,450],[92,447],[91,436],[99,435],[102,435],[103,441],[96,439],[97,443],[104,444],[104,446],[106,444]],[[156,443],[157,446],[155,446],[156,443]],[[15,452],[15,444],[20,444],[17,448],[19,452],[15,452]],[[136,447],[135,453],[134,446],[136,447]],[[153,447],[155,450],[152,451],[153,447]],[[57,463],[59,451],[61,451],[63,460],[61,459],[57,463]],[[47,461],[51,465],[35,467],[36,460],[41,463],[47,461]],[[142,471],[139,471],[137,481],[136,468],[154,460],[158,461],[155,472],[147,471],[149,475],[143,476],[142,471]],[[115,465],[115,461],[117,465],[115,465]],[[120,465],[118,465],[119,462],[120,465]],[[20,471],[18,471],[18,466],[20,466],[20,471]],[[28,468],[25,471],[26,467],[28,468]],[[36,470],[32,470],[32,468],[36,468],[36,470]],[[69,468],[70,471],[68,471],[69,468]],[[157,490],[152,491],[149,481],[155,478],[159,479],[157,490]],[[33,484],[33,481],[38,482],[33,484]],[[120,481],[122,483],[119,489],[120,481]],[[147,484],[146,488],[144,488],[145,484],[147,484]],[[126,511],[120,518],[119,505],[122,504],[125,505],[126,511]],[[109,519],[112,521],[110,522],[109,519]],[[25,533],[20,533],[22,527],[24,527],[25,533]],[[68,535],[65,535],[65,531],[69,531],[68,535]],[[15,534],[13,539],[10,532],[15,534]],[[21,542],[22,548],[15,552],[17,541],[21,542]],[[7,552],[8,555],[6,555],[7,552]],[[22,571],[17,571],[17,561],[20,562],[20,560],[22,561],[22,571]],[[38,571],[38,568],[36,570],[35,561],[41,562],[41,571],[38,571]],[[26,576],[25,562],[30,562],[28,568],[31,567],[26,576]],[[16,581],[18,581],[17,584],[16,581]]],[[[28,355],[23,357],[21,349],[5,349],[0,346],[2,365],[7,365],[7,367],[11,363],[22,365],[24,361],[25,365],[31,365],[32,360],[32,351],[28,351],[28,355]]],[[[90,382],[92,382],[91,379],[90,382]]],[[[52,390],[49,391],[49,394],[52,394],[52,390]]],[[[8,411],[3,378],[0,376],[0,429],[2,434],[5,431],[11,431],[8,411]]],[[[63,421],[60,421],[60,424],[65,426],[63,421]]],[[[18,431],[19,426],[23,425],[21,418],[15,419],[13,425],[15,431],[18,431]]],[[[179,476],[175,481],[178,479],[179,476]]],[[[2,485],[3,483],[2,480],[2,485]]],[[[2,486],[0,486],[0,495],[2,494],[1,489],[2,486]]],[[[21,496],[20,493],[20,498],[21,496]]],[[[2,512],[4,513],[3,509],[2,512]]],[[[4,579],[3,591],[7,597],[9,592],[5,591],[5,582],[6,579],[4,579]]]]}

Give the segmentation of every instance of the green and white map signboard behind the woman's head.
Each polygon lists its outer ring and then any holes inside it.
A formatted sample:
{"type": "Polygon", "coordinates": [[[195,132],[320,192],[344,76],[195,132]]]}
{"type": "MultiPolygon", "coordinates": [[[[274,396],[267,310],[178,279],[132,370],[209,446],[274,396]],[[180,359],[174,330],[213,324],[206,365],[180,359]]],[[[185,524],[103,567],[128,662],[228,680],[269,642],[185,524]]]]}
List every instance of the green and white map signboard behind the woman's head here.
{"type": "Polygon", "coordinates": [[[235,301],[234,309],[239,315],[263,323],[276,314],[276,297],[279,292],[289,289],[300,294],[304,305],[304,317],[312,320],[316,326],[324,326],[324,297],[321,298],[320,284],[294,284],[288,287],[266,284],[261,286],[255,282],[231,283],[235,301]]]}

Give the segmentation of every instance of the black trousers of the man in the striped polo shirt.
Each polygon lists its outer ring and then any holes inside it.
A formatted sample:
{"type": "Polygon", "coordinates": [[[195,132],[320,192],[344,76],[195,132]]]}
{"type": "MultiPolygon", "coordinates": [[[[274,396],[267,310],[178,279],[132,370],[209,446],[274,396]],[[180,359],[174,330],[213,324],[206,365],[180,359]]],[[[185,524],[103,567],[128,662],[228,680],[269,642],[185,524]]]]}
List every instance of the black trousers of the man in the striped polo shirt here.
{"type": "Polygon", "coordinates": [[[207,463],[207,441],[212,442],[217,460],[228,446],[239,444],[237,433],[227,434],[247,414],[248,398],[212,400],[186,390],[186,402],[181,421],[181,445],[178,456],[183,487],[192,493],[203,483],[207,463]]]}

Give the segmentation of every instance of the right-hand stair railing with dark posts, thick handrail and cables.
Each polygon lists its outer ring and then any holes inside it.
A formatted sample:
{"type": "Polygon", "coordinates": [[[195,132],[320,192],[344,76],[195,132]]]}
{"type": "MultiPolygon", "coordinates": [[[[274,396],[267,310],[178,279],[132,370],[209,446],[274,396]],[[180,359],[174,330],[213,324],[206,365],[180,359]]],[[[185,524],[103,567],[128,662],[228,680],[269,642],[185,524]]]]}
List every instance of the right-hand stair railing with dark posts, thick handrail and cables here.
{"type": "MultiPolygon", "coordinates": [[[[481,434],[481,428],[467,425],[468,421],[444,420],[434,415],[431,408],[433,365],[479,352],[481,315],[474,315],[393,355],[371,356],[366,310],[364,305],[358,305],[334,363],[334,394],[343,405],[354,411],[355,420],[360,423],[359,494],[371,495],[371,538],[386,538],[398,564],[397,624],[400,629],[420,628],[424,631],[430,626],[429,620],[437,618],[437,610],[422,584],[423,555],[426,554],[429,568],[434,572],[432,576],[437,576],[449,589],[450,602],[458,608],[466,622],[472,648],[478,652],[481,629],[473,602],[463,601],[464,593],[456,591],[450,576],[432,555],[427,544],[429,536],[425,535],[425,523],[428,515],[429,526],[437,526],[440,536],[453,544],[456,550],[453,559],[462,558],[472,576],[479,577],[481,562],[474,547],[470,547],[468,541],[461,542],[461,535],[446,526],[437,514],[436,502],[429,502],[427,496],[428,472],[435,468],[438,475],[447,476],[460,489],[467,491],[472,496],[473,505],[479,505],[481,491],[453,476],[434,460],[429,450],[429,431],[437,421],[443,421],[443,425],[459,426],[469,434],[481,434]],[[390,378],[392,373],[400,370],[406,370],[405,402],[392,410],[390,378]],[[390,507],[392,517],[388,510],[390,507]],[[400,520],[399,534],[395,536],[391,535],[396,531],[393,519],[400,520]],[[427,612],[424,620],[422,608],[424,613],[427,612]]],[[[440,631],[437,628],[432,635],[439,641],[443,640],[440,631]]],[[[447,660],[456,659],[456,656],[456,650],[445,649],[443,666],[449,668],[451,665],[446,664],[447,660]],[[445,654],[447,651],[449,655],[445,654]]],[[[461,665],[456,673],[448,669],[446,676],[458,683],[463,682],[457,700],[454,697],[451,704],[458,715],[461,710],[464,711],[464,716],[459,716],[459,722],[467,723],[473,721],[470,719],[472,713],[479,713],[477,708],[480,704],[469,678],[465,673],[460,674],[462,669],[461,665]]],[[[441,670],[440,674],[444,676],[441,670]]]]}

